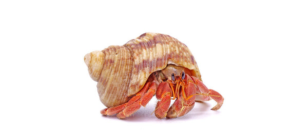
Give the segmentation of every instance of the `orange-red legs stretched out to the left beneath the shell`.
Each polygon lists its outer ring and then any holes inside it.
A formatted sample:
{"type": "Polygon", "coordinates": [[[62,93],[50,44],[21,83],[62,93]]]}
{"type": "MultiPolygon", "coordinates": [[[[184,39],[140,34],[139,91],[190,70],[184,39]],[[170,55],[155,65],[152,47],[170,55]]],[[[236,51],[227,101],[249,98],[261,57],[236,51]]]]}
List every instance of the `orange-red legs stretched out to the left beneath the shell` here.
{"type": "Polygon", "coordinates": [[[146,106],[146,104],[151,100],[155,95],[156,84],[147,82],[144,87],[132,97],[127,103],[121,104],[119,106],[110,107],[103,109],[101,111],[102,115],[115,115],[119,119],[124,119],[132,115],[137,111],[141,106],[146,106]]]}

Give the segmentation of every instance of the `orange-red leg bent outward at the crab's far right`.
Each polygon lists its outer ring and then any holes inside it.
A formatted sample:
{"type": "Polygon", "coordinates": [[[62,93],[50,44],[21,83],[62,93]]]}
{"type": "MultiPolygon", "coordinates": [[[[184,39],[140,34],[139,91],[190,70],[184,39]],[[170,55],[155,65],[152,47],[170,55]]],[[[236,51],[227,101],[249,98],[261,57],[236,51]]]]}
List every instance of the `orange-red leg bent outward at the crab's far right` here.
{"type": "Polygon", "coordinates": [[[224,98],[216,91],[214,91],[213,89],[208,89],[203,82],[201,82],[198,78],[196,77],[191,77],[195,84],[198,86],[197,89],[197,94],[206,94],[209,96],[205,96],[205,95],[197,95],[196,100],[197,101],[208,101],[210,99],[214,99],[217,104],[216,106],[214,106],[213,108],[211,108],[211,110],[218,110],[222,104],[223,104],[223,100],[224,98]]]}

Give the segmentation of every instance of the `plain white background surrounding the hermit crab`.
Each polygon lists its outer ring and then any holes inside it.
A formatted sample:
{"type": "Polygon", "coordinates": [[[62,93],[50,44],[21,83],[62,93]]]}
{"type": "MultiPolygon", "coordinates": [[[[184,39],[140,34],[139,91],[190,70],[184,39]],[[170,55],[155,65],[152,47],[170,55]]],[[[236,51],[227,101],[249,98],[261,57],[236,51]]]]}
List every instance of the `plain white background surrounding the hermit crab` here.
{"type": "Polygon", "coordinates": [[[306,1],[1,1],[0,134],[307,134],[306,1]],[[185,43],[222,94],[177,119],[103,117],[86,53],[145,32],[185,43]]]}

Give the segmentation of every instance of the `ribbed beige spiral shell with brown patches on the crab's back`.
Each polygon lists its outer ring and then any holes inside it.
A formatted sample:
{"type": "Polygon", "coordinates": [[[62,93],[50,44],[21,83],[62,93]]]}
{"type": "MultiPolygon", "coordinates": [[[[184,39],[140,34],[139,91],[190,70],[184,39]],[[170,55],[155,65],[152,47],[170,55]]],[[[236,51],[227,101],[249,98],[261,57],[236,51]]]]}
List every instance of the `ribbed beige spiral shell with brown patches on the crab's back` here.
{"type": "Polygon", "coordinates": [[[186,45],[159,33],[144,33],[124,46],[110,46],[84,57],[88,71],[98,81],[98,93],[106,107],[127,102],[140,91],[151,73],[168,64],[183,66],[201,79],[198,65],[186,45]]]}

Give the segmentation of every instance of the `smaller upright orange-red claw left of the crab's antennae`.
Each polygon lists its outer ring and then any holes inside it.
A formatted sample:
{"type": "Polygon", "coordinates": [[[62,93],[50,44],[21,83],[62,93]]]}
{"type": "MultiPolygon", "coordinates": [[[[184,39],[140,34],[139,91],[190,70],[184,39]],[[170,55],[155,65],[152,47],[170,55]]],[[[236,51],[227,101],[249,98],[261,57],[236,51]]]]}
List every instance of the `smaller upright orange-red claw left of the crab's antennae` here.
{"type": "Polygon", "coordinates": [[[157,88],[156,98],[157,102],[155,108],[155,116],[159,119],[165,118],[168,108],[170,106],[171,89],[167,82],[161,82],[157,88]]]}

